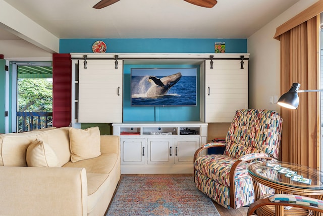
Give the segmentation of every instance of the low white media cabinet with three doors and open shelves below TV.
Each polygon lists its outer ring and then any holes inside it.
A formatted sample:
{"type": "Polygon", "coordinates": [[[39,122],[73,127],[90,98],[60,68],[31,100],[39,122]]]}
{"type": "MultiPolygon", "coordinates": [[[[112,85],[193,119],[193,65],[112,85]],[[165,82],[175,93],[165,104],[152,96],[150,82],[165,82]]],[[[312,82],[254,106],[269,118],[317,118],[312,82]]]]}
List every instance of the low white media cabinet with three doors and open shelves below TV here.
{"type": "Polygon", "coordinates": [[[114,123],[122,174],[193,173],[193,155],[207,142],[207,123],[114,123]]]}

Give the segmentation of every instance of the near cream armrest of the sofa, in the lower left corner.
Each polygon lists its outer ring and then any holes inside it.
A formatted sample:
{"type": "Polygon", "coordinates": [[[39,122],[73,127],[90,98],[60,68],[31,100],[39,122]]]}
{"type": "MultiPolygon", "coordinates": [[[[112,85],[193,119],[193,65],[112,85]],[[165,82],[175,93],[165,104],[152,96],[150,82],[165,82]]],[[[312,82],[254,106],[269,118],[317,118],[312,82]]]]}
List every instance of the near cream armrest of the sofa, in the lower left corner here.
{"type": "Polygon", "coordinates": [[[0,215],[87,215],[84,168],[0,167],[0,215]]]}

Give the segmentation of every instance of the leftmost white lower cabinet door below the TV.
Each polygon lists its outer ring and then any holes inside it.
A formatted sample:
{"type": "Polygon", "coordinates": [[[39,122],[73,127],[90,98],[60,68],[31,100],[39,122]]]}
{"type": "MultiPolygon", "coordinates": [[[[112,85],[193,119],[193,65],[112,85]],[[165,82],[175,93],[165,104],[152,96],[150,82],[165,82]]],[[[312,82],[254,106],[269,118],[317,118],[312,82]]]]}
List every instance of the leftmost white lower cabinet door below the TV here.
{"type": "Polygon", "coordinates": [[[145,139],[121,138],[121,164],[145,164],[145,139]]]}

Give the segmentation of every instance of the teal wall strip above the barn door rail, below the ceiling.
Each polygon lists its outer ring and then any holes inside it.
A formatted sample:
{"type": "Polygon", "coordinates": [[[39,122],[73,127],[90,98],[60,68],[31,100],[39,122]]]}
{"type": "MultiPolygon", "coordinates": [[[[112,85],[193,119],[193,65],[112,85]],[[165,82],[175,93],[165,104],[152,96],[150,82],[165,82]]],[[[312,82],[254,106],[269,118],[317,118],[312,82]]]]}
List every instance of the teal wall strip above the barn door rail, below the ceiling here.
{"type": "Polygon", "coordinates": [[[87,39],[60,39],[60,53],[92,52],[92,44],[97,40],[102,40],[106,44],[106,49],[107,49],[106,52],[213,53],[214,42],[225,42],[227,53],[246,53],[247,52],[247,39],[87,38],[87,39]]]}

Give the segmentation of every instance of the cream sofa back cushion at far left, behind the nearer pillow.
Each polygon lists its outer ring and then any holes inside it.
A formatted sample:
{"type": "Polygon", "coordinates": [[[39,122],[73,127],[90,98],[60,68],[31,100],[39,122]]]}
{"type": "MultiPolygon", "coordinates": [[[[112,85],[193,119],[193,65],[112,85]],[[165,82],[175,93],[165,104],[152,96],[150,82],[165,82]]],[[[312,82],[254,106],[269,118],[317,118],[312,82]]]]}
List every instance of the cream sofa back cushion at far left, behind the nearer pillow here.
{"type": "Polygon", "coordinates": [[[27,166],[27,147],[41,133],[32,131],[0,135],[0,166],[27,166]]]}

